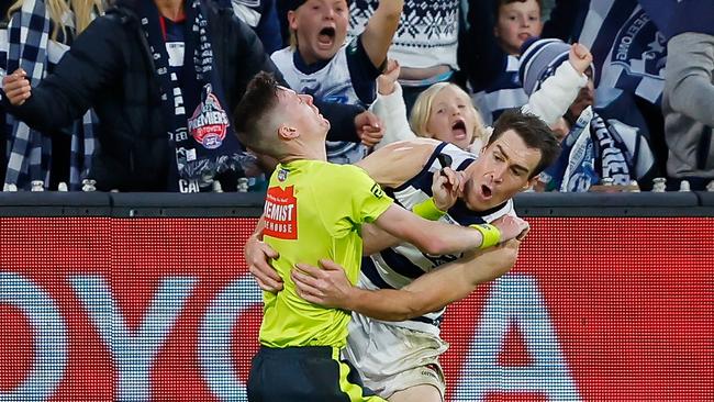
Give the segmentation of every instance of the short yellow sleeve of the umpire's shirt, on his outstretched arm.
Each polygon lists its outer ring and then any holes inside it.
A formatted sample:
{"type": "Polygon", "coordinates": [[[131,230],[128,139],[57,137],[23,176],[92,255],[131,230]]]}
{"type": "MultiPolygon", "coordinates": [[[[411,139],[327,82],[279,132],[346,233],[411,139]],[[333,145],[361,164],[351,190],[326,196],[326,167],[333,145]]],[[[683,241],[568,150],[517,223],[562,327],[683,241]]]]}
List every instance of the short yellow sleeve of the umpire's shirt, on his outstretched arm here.
{"type": "Polygon", "coordinates": [[[370,223],[393,203],[381,187],[359,167],[335,166],[325,176],[321,181],[331,183],[330,187],[323,187],[330,188],[330,194],[321,198],[330,200],[327,204],[331,208],[325,208],[325,212],[341,215],[333,216],[337,221],[346,219],[356,225],[370,223]]]}

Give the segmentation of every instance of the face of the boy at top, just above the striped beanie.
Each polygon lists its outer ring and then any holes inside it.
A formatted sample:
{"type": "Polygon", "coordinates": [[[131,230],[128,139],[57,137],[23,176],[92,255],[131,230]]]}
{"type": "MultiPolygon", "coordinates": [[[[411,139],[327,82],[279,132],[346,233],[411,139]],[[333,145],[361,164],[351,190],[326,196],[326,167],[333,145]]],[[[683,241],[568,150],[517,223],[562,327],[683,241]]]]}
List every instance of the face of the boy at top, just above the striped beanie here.
{"type": "Polygon", "coordinates": [[[517,55],[521,46],[531,36],[540,36],[543,22],[540,7],[536,0],[515,1],[499,9],[499,19],[493,34],[501,46],[511,55],[517,55]]]}

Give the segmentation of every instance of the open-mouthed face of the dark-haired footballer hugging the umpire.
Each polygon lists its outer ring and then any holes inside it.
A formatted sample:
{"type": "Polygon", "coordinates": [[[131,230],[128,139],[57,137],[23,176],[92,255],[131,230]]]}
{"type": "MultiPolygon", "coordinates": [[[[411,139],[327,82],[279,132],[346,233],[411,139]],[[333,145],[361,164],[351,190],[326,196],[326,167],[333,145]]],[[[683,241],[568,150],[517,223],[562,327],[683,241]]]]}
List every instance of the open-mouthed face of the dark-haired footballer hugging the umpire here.
{"type": "Polygon", "coordinates": [[[503,203],[533,185],[529,178],[540,161],[540,150],[529,148],[518,134],[501,134],[467,168],[464,201],[473,211],[484,211],[503,203]]]}

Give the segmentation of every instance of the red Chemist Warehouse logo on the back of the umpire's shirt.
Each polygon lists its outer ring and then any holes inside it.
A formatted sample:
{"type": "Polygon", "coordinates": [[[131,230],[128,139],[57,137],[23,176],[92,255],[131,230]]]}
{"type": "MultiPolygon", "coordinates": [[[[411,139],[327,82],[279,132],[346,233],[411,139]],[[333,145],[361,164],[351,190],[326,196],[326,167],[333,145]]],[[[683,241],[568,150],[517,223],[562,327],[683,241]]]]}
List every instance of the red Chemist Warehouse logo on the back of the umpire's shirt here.
{"type": "Polygon", "coordinates": [[[263,234],[276,238],[294,241],[298,238],[298,200],[294,187],[285,190],[271,187],[266,194],[263,234]]]}

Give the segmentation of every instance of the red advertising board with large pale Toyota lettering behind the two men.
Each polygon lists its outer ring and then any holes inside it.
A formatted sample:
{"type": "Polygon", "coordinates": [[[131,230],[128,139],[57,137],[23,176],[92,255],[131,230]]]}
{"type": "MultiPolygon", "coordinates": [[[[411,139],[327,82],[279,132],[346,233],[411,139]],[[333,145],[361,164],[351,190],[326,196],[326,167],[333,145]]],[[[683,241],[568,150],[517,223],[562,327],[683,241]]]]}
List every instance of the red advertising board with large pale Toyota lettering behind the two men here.
{"type": "MultiPolygon", "coordinates": [[[[539,217],[443,324],[448,401],[714,400],[713,219],[539,217]]],[[[0,219],[0,401],[245,401],[254,219],[0,219]]]]}

